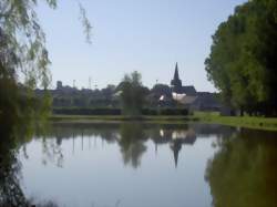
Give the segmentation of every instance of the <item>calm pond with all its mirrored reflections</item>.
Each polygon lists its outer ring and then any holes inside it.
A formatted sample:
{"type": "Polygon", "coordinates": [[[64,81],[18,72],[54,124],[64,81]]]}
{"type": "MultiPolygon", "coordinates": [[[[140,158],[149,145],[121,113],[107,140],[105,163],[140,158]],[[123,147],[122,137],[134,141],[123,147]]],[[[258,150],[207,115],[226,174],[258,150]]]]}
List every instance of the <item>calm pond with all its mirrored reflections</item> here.
{"type": "Polygon", "coordinates": [[[9,170],[16,173],[1,175],[0,206],[12,196],[65,207],[277,205],[273,132],[207,124],[52,123],[17,145],[9,156],[16,161],[9,170]]]}

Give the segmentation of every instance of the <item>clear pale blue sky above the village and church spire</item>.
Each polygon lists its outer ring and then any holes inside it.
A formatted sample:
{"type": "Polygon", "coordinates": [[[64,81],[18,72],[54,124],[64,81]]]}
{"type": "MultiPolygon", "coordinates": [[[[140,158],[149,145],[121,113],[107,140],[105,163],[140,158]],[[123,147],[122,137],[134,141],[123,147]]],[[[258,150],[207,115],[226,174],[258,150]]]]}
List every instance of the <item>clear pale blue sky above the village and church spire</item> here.
{"type": "Polygon", "coordinates": [[[234,8],[246,0],[80,0],[93,27],[85,41],[78,0],[41,3],[38,13],[47,34],[52,87],[63,84],[105,87],[138,71],[143,84],[170,84],[176,62],[183,85],[215,92],[204,61],[212,35],[234,8]]]}

